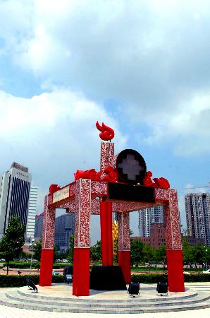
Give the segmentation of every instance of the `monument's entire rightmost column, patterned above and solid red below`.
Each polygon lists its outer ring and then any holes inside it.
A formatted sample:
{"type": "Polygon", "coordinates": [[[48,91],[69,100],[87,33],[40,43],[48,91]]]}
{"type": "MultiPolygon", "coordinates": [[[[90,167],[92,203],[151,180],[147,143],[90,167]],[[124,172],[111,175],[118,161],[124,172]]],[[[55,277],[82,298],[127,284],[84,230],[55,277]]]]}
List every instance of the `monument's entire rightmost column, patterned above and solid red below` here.
{"type": "Polygon", "coordinates": [[[178,198],[175,190],[170,190],[169,200],[163,204],[166,226],[166,258],[168,269],[168,290],[185,291],[183,274],[183,252],[180,233],[178,198]]]}

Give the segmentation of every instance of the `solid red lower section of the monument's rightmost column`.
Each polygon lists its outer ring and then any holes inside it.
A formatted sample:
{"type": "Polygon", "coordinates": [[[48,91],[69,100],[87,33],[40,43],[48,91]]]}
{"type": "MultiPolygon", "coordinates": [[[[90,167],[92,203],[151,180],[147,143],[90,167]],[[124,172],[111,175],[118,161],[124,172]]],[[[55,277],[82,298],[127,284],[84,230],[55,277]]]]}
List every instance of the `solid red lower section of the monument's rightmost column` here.
{"type": "Polygon", "coordinates": [[[180,249],[167,249],[168,290],[171,292],[185,291],[183,273],[183,252],[180,249]]]}

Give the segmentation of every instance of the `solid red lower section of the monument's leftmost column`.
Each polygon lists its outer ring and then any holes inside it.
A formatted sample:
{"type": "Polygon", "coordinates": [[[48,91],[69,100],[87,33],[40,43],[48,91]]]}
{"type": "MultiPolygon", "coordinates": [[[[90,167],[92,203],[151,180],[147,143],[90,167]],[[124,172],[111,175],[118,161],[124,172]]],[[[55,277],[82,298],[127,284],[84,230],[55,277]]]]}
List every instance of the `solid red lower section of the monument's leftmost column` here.
{"type": "Polygon", "coordinates": [[[42,249],[39,285],[51,286],[54,249],[42,249]]]}

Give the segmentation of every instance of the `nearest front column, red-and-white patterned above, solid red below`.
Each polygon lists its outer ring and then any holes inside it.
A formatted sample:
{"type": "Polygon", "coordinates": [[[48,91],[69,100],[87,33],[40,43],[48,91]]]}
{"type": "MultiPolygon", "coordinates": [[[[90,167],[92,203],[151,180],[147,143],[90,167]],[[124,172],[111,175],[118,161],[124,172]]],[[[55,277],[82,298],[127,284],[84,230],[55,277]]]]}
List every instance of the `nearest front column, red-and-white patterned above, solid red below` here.
{"type": "Polygon", "coordinates": [[[89,295],[89,230],[91,180],[79,179],[75,192],[75,240],[73,254],[73,295],[89,295]]]}

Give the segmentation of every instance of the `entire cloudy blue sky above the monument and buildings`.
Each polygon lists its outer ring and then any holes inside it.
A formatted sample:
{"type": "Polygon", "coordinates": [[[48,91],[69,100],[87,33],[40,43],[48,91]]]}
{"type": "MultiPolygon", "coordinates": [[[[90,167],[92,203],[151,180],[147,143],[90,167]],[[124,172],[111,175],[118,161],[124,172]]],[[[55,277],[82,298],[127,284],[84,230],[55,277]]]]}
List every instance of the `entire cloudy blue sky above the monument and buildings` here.
{"type": "Polygon", "coordinates": [[[0,1],[0,172],[29,167],[38,213],[49,184],[99,170],[99,120],[178,189],[185,225],[183,195],[209,191],[209,16],[208,0],[0,1]]]}

